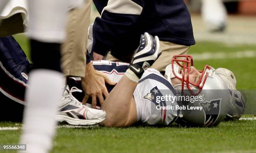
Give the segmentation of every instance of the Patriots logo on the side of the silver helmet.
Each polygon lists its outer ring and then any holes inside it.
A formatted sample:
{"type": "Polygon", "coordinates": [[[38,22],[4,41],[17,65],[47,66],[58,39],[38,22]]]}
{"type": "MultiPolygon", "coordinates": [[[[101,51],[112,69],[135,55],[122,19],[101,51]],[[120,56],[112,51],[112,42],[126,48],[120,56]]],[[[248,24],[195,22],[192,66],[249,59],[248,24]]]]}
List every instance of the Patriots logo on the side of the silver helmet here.
{"type": "Polygon", "coordinates": [[[214,99],[210,102],[200,102],[200,105],[203,107],[205,112],[204,126],[211,127],[216,122],[220,115],[220,102],[221,99],[214,99]]]}

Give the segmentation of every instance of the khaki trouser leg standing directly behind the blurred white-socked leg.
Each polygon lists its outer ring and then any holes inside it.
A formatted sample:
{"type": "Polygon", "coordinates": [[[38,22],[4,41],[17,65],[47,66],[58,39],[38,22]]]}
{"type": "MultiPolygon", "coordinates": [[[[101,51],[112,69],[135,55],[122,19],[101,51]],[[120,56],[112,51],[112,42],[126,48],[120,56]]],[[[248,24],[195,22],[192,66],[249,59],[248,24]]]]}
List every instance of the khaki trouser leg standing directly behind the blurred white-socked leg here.
{"type": "Polygon", "coordinates": [[[88,28],[92,0],[85,0],[81,8],[74,8],[69,13],[67,39],[61,46],[61,68],[65,76],[84,77],[88,28]]]}

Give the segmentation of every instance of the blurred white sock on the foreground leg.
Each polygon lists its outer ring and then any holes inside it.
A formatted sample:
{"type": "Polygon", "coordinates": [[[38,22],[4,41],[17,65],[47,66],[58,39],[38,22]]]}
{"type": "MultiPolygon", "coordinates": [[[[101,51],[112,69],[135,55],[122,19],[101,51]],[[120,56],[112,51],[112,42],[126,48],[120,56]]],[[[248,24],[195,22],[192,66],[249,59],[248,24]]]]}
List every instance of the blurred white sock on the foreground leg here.
{"type": "Polygon", "coordinates": [[[20,144],[27,144],[27,153],[47,153],[55,133],[55,115],[65,79],[60,72],[48,69],[33,70],[29,77],[20,144]]]}

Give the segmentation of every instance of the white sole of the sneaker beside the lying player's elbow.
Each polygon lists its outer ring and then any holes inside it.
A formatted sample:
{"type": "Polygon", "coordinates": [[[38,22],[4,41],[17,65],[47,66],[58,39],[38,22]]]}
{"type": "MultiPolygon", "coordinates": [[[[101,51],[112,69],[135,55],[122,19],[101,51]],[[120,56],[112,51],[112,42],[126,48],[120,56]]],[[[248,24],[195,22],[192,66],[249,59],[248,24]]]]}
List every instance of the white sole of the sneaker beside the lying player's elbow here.
{"type": "Polygon", "coordinates": [[[65,115],[57,115],[56,120],[59,122],[67,122],[69,125],[95,125],[100,122],[103,122],[105,118],[97,119],[97,120],[80,120],[76,118],[72,118],[65,115]]]}

